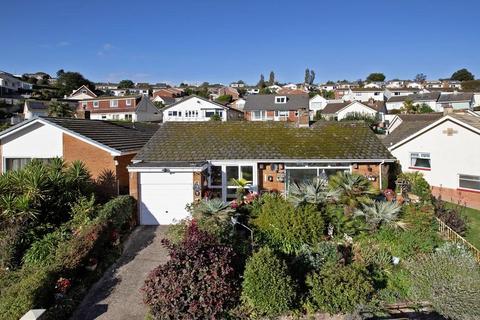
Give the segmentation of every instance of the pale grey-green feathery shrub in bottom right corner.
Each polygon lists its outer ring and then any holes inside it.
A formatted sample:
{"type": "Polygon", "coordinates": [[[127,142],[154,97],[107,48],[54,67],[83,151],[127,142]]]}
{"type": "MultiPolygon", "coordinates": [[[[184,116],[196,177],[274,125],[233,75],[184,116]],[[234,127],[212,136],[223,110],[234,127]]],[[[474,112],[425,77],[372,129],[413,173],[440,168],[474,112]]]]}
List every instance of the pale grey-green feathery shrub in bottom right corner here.
{"type": "Polygon", "coordinates": [[[480,269],[464,248],[447,243],[434,253],[413,259],[407,267],[416,299],[430,301],[449,319],[480,318],[480,269]]]}

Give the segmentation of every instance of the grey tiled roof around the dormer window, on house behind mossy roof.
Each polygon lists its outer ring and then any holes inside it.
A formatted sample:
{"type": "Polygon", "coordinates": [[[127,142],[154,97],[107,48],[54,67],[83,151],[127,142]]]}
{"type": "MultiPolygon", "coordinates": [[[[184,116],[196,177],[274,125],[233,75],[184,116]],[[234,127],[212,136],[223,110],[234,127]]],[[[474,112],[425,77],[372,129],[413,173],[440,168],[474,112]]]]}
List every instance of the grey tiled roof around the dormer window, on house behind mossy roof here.
{"type": "Polygon", "coordinates": [[[255,110],[278,110],[278,111],[297,111],[299,109],[308,109],[308,94],[255,94],[245,97],[245,111],[255,110]],[[286,103],[275,103],[275,97],[286,96],[286,103]]]}

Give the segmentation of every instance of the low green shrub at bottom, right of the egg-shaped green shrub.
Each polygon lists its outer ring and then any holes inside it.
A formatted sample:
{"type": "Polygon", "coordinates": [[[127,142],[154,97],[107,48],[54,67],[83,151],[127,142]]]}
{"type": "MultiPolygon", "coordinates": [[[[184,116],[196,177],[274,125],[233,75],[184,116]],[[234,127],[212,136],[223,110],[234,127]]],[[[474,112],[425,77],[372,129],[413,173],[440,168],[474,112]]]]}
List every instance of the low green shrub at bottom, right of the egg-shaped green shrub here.
{"type": "Polygon", "coordinates": [[[310,305],[330,314],[353,312],[374,293],[366,269],[358,264],[328,265],[307,277],[310,305]]]}

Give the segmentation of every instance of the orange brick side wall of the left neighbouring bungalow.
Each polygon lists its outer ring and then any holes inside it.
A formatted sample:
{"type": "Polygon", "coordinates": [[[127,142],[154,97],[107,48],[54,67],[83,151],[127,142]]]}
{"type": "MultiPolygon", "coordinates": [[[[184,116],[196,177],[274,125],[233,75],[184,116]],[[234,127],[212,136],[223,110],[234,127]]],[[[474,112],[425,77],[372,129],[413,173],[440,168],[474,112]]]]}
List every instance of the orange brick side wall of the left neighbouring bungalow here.
{"type": "Polygon", "coordinates": [[[115,161],[110,153],[65,133],[63,134],[63,159],[67,162],[82,161],[93,179],[97,179],[104,170],[116,173],[115,161]]]}

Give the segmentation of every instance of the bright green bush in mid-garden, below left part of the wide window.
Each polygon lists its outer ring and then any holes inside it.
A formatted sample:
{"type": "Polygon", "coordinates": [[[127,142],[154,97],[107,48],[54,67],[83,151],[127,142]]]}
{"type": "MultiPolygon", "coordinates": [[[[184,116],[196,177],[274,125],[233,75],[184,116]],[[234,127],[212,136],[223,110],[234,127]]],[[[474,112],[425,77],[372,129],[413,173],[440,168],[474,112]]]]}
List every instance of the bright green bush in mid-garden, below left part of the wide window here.
{"type": "Polygon", "coordinates": [[[323,240],[325,225],[314,205],[295,208],[279,195],[264,195],[263,205],[254,212],[252,224],[270,246],[284,253],[296,253],[323,240]]]}

